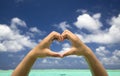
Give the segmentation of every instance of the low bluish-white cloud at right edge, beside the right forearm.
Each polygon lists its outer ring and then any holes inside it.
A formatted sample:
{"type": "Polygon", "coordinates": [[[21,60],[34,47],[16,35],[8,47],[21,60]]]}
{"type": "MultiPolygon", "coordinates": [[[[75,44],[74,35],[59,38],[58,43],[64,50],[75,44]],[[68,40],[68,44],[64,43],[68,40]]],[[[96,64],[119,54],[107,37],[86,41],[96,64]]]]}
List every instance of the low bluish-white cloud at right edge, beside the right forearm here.
{"type": "Polygon", "coordinates": [[[100,46],[96,49],[95,54],[105,65],[120,65],[120,50],[110,52],[106,47],[100,46]]]}

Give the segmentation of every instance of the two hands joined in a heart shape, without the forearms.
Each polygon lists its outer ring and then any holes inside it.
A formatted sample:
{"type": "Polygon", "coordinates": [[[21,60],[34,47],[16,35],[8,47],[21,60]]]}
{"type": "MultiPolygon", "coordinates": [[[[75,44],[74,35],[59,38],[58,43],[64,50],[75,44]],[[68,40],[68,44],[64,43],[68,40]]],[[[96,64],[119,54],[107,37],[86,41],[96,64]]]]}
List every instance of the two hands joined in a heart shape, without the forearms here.
{"type": "Polygon", "coordinates": [[[84,48],[86,46],[83,42],[71,31],[65,30],[62,34],[58,32],[51,32],[47,37],[45,37],[35,48],[37,50],[35,53],[37,57],[64,57],[68,55],[83,55],[85,53],[84,48]],[[65,39],[68,39],[71,42],[71,48],[69,51],[66,51],[64,53],[57,53],[53,52],[50,49],[50,45],[53,42],[53,40],[57,41],[64,41],[65,39]]]}

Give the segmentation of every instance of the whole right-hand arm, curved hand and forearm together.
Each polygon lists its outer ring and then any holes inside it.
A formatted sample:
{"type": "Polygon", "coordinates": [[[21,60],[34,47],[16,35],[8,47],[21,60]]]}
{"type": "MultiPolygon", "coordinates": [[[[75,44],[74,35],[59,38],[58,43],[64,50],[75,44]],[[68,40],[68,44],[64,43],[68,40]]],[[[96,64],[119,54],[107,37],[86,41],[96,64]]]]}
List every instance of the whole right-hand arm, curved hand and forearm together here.
{"type": "Polygon", "coordinates": [[[64,39],[70,40],[72,44],[71,49],[63,53],[63,56],[84,56],[90,67],[92,76],[108,76],[105,68],[97,59],[93,51],[89,47],[87,47],[75,34],[70,32],[69,30],[65,30],[62,33],[62,36],[64,37],[64,39]]]}

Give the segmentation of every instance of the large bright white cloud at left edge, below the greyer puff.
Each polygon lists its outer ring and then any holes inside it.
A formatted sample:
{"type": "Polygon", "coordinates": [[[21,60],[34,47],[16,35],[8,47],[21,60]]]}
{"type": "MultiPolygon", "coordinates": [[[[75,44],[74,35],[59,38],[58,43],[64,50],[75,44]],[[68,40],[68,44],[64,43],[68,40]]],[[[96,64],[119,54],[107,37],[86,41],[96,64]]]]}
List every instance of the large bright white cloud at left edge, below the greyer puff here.
{"type": "Polygon", "coordinates": [[[9,26],[0,25],[0,51],[17,52],[36,45],[29,36],[13,31],[9,26]]]}

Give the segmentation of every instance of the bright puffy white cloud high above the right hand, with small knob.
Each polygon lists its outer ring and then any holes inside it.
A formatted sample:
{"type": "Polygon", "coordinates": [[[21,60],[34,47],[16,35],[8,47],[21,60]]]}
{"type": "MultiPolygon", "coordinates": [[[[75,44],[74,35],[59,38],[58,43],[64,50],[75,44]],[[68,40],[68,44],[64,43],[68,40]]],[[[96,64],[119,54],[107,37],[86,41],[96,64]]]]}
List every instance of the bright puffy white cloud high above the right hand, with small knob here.
{"type": "Polygon", "coordinates": [[[74,24],[79,29],[87,29],[90,32],[97,31],[102,26],[102,23],[99,21],[100,17],[100,13],[93,15],[93,17],[89,14],[82,14],[78,16],[74,24]]]}

